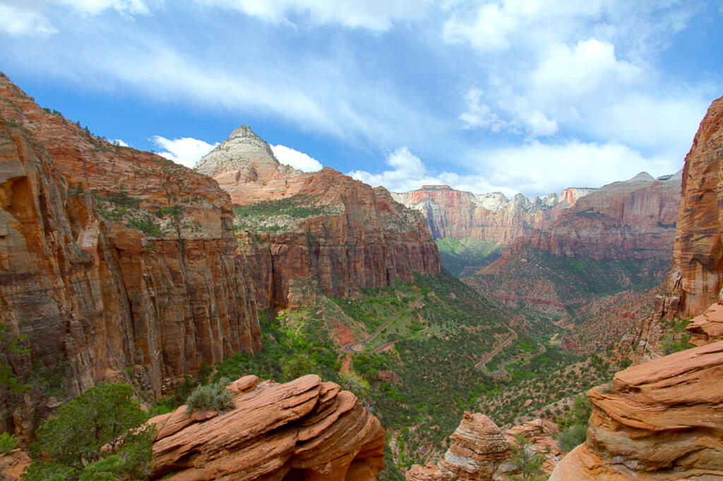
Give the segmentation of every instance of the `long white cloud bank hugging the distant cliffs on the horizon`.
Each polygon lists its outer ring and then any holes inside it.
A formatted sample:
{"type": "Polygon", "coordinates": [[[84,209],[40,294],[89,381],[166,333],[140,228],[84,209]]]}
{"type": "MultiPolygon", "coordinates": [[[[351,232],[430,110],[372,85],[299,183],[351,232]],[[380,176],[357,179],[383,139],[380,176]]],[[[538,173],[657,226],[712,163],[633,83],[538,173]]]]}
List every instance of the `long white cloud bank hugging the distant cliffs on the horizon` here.
{"type": "Polygon", "coordinates": [[[629,179],[639,171],[653,176],[672,174],[683,167],[680,161],[647,158],[625,145],[570,140],[544,144],[538,140],[513,148],[476,150],[468,154],[471,174],[455,174],[429,169],[408,148],[389,153],[386,163],[392,169],[372,174],[351,171],[347,175],[372,186],[382,185],[393,192],[416,190],[422,185],[450,185],[482,194],[503,192],[508,197],[521,192],[530,197],[560,192],[566,187],[601,187],[629,179]]]}

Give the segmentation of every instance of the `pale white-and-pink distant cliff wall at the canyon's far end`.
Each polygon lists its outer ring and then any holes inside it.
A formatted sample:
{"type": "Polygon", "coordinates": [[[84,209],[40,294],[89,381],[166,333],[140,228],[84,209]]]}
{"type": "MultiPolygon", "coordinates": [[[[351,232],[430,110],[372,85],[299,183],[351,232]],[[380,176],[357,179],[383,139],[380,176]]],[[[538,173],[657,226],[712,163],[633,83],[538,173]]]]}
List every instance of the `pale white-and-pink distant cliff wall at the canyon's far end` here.
{"type": "Polygon", "coordinates": [[[515,195],[509,200],[501,192],[474,195],[448,185],[425,185],[419,190],[393,193],[398,203],[419,210],[427,220],[432,237],[467,237],[508,244],[534,229],[546,229],[562,210],[593,189],[565,189],[560,195],[529,200],[515,195]]]}

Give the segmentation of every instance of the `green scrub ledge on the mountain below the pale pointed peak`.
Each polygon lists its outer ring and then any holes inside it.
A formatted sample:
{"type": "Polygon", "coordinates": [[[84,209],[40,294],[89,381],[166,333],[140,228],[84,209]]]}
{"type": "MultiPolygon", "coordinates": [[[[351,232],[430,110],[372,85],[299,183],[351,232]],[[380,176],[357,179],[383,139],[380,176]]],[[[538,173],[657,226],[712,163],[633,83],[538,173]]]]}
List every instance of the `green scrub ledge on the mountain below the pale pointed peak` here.
{"type": "Polygon", "coordinates": [[[294,219],[333,214],[333,208],[320,203],[318,195],[299,194],[279,200],[262,200],[234,207],[237,231],[282,231],[294,219]]]}

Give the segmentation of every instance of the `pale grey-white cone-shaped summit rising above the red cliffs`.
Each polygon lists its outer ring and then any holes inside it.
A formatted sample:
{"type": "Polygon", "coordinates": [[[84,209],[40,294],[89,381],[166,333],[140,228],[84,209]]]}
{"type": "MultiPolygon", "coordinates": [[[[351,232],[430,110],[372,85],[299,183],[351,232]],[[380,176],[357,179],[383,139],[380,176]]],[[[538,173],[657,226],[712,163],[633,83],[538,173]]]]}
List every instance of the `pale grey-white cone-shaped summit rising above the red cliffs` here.
{"type": "Polygon", "coordinates": [[[268,143],[256,135],[251,127],[241,125],[198,161],[195,169],[213,177],[223,172],[275,169],[280,165],[268,143]]]}

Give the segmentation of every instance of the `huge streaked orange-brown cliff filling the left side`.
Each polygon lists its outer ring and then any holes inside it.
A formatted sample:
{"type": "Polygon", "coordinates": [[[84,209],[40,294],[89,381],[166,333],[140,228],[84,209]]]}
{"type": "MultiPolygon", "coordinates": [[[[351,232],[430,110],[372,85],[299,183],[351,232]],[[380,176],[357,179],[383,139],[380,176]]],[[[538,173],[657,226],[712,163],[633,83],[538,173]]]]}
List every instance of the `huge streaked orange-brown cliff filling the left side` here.
{"type": "MultiPolygon", "coordinates": [[[[129,378],[157,396],[202,362],[260,349],[226,192],[93,137],[4,76],[0,201],[1,322],[28,348],[9,359],[19,383],[58,370],[69,396],[129,378]]],[[[35,381],[3,399],[4,429],[27,436],[57,402],[35,381]]]]}

